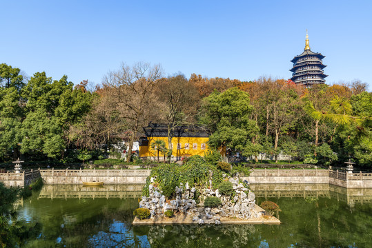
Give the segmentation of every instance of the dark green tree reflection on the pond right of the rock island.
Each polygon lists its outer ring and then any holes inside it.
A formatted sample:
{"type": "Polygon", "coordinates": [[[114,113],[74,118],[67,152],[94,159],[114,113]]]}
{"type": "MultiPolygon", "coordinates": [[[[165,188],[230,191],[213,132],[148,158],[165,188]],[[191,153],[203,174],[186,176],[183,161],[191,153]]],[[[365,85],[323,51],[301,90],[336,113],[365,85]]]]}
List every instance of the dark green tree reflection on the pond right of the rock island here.
{"type": "Polygon", "coordinates": [[[355,205],[351,211],[333,198],[269,200],[282,209],[280,227],[271,232],[258,227],[270,247],[372,247],[371,204],[355,205]]]}

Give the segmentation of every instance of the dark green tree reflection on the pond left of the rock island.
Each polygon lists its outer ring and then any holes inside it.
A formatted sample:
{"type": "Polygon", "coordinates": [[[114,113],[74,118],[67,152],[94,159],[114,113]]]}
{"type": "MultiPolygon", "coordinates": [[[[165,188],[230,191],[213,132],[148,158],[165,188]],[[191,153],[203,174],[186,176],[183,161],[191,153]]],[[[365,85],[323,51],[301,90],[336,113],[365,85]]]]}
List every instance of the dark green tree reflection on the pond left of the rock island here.
{"type": "Polygon", "coordinates": [[[28,213],[43,223],[43,229],[40,238],[30,240],[26,247],[86,247],[91,236],[110,232],[114,220],[128,231],[137,207],[138,200],[132,198],[32,199],[28,213]]]}

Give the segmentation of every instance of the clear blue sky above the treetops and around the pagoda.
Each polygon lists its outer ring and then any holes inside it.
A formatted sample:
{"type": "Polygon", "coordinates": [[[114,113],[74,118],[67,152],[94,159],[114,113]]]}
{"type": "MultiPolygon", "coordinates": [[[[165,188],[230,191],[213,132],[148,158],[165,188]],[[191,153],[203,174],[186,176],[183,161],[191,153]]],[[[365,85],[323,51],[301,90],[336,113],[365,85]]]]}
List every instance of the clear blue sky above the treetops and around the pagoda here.
{"type": "Polygon", "coordinates": [[[5,1],[0,63],[101,83],[121,62],[166,74],[291,78],[293,56],[326,56],[326,83],[372,90],[372,1],[5,1]]]}

